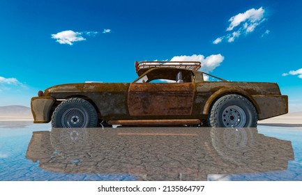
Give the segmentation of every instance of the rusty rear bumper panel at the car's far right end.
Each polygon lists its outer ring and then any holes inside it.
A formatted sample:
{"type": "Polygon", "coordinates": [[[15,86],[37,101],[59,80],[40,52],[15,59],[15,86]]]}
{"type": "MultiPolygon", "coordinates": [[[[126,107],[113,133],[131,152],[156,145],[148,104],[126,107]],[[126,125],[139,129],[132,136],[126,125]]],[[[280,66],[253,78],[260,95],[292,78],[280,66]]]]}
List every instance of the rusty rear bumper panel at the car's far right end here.
{"type": "Polygon", "coordinates": [[[252,95],[257,103],[258,120],[288,113],[287,95],[252,95]]]}

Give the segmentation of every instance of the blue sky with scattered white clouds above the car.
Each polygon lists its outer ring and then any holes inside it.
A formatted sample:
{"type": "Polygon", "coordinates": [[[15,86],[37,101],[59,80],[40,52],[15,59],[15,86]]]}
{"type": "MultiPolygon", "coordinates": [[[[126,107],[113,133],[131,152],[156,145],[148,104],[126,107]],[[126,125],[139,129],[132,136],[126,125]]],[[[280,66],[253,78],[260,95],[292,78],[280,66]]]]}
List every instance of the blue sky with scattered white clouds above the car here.
{"type": "Polygon", "coordinates": [[[230,81],[277,82],[302,111],[302,1],[0,1],[0,106],[134,61],[192,59],[230,81]],[[220,41],[221,40],[221,41],[220,41]]]}

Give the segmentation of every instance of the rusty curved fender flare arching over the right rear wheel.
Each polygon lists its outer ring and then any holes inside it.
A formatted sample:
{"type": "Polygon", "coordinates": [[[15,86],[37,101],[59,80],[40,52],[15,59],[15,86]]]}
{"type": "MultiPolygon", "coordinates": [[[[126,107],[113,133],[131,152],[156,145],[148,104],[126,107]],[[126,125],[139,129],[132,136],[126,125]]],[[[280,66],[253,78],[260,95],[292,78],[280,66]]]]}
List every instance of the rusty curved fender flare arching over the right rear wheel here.
{"type": "Polygon", "coordinates": [[[257,111],[257,115],[259,115],[259,111],[260,111],[259,106],[258,106],[257,102],[254,100],[254,98],[252,98],[252,95],[250,95],[246,91],[243,91],[241,88],[226,88],[226,87],[220,88],[218,91],[213,93],[210,96],[210,98],[208,98],[208,100],[206,100],[206,104],[204,105],[204,110],[203,110],[202,114],[206,114],[206,115],[209,114],[211,107],[219,98],[221,98],[225,95],[230,95],[230,94],[241,95],[244,98],[248,99],[252,103],[252,105],[255,107],[255,109],[257,111]]]}

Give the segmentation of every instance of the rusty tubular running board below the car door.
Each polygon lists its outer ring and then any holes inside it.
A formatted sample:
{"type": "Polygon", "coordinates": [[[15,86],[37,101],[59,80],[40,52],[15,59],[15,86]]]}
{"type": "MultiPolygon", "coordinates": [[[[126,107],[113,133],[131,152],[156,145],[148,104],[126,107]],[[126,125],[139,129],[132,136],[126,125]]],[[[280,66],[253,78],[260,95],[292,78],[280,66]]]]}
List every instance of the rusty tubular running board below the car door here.
{"type": "Polygon", "coordinates": [[[199,119],[167,119],[167,120],[109,120],[109,125],[198,125],[199,119]]]}

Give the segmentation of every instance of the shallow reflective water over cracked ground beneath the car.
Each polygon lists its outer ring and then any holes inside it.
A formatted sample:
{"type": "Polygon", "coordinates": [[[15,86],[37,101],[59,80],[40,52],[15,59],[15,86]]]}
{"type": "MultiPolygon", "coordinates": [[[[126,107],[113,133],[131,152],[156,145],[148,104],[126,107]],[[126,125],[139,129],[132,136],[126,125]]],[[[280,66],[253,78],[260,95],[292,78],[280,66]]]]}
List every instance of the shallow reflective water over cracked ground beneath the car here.
{"type": "Polygon", "coordinates": [[[0,121],[0,180],[302,180],[302,129],[0,121]]]}

